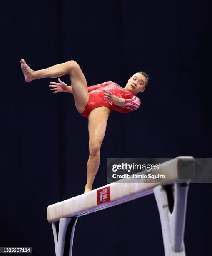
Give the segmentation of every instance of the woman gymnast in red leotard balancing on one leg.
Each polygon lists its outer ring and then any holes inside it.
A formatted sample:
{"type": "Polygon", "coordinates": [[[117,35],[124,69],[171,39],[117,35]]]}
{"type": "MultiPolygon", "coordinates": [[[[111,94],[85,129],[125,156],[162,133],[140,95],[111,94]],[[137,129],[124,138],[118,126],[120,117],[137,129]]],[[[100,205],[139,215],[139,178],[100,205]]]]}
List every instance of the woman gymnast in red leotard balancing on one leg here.
{"type": "Polygon", "coordinates": [[[137,72],[128,80],[125,88],[114,82],[104,82],[87,86],[80,66],[76,61],[67,61],[47,69],[32,70],[21,59],[21,69],[26,82],[40,78],[56,78],[69,74],[71,86],[58,78],[58,83],[50,82],[53,93],[69,92],[74,96],[77,111],[88,119],[89,159],[87,161],[87,183],[85,193],[92,190],[95,175],[100,165],[100,147],[105,136],[107,120],[112,110],[128,113],[140,106],[140,99],[135,95],[144,92],[149,80],[145,72],[137,72]]]}

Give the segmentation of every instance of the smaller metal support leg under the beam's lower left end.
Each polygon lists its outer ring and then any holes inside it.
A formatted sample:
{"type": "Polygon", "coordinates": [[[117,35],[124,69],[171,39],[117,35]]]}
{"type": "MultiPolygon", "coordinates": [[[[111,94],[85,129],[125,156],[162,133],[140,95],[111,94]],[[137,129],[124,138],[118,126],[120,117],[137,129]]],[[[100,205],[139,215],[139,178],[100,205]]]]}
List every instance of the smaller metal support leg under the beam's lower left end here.
{"type": "Polygon", "coordinates": [[[78,218],[62,218],[57,223],[52,223],[56,256],[72,256],[77,219],[78,218]]]}

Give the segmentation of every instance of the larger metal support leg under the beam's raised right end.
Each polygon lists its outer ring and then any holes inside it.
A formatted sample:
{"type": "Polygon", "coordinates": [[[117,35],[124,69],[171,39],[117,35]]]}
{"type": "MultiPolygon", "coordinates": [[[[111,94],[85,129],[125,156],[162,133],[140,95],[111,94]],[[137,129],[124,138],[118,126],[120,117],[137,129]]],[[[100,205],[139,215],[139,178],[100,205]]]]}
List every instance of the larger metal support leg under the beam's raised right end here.
{"type": "Polygon", "coordinates": [[[188,184],[157,186],[155,199],[160,214],[165,256],[185,256],[183,242],[188,184]]]}

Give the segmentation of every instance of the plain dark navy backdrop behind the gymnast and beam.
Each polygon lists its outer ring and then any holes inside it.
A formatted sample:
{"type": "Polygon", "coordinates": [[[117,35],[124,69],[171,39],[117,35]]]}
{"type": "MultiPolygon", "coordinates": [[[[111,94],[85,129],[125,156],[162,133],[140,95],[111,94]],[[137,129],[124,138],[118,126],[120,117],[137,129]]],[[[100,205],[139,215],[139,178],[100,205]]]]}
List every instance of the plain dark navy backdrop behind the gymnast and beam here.
{"type": "MultiPolygon", "coordinates": [[[[26,83],[21,58],[34,70],[75,60],[88,85],[150,75],[137,111],[111,113],[93,188],[107,184],[107,158],[211,157],[209,2],[7,0],[0,9],[0,246],[54,255],[47,206],[81,194],[87,176],[87,119],[72,95],[52,95],[56,79],[26,83]]],[[[211,188],[190,185],[188,256],[211,255],[211,188]]],[[[164,255],[153,195],[77,222],[74,256],[156,253],[164,255]]]]}

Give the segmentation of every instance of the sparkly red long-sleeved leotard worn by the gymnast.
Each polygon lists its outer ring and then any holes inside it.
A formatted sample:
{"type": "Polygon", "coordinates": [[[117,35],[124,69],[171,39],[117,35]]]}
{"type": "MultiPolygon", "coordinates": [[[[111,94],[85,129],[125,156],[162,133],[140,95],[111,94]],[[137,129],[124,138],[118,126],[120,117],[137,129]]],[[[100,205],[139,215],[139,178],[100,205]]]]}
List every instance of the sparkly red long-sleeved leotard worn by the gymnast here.
{"type": "Polygon", "coordinates": [[[115,110],[121,113],[128,113],[130,111],[136,110],[141,104],[140,99],[132,94],[132,92],[123,89],[118,84],[112,81],[89,86],[87,88],[89,92],[89,100],[87,102],[85,110],[81,113],[81,115],[87,118],[91,110],[93,110],[94,108],[104,106],[109,108],[110,111],[115,110]],[[108,102],[107,100],[104,100],[104,90],[110,91],[113,95],[119,98],[124,98],[125,105],[120,107],[115,105],[112,101],[108,102]]]}

